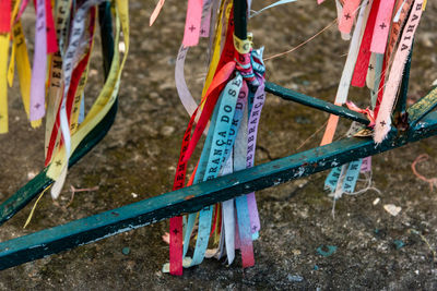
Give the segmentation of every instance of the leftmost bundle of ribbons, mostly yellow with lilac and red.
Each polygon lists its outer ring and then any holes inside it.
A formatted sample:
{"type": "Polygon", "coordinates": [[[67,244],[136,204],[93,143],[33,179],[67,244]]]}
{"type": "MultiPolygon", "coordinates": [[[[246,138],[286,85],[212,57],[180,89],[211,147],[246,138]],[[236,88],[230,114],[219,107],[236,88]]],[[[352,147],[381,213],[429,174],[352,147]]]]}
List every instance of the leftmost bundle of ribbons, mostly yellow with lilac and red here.
{"type": "Polygon", "coordinates": [[[72,153],[97,124],[105,121],[117,100],[129,48],[128,1],[35,0],[33,8],[28,2],[0,1],[0,132],[8,132],[7,83],[13,85],[16,64],[22,100],[32,126],[40,126],[45,118],[46,174],[55,181],[51,196],[57,198],[72,153]],[[32,63],[22,26],[26,8],[36,15],[32,63]],[[85,114],[84,89],[97,19],[101,32],[104,32],[111,29],[111,15],[116,26],[115,41],[110,41],[111,48],[106,48],[114,51],[107,63],[105,85],[85,114]],[[120,41],[126,48],[122,58],[120,41]]]}

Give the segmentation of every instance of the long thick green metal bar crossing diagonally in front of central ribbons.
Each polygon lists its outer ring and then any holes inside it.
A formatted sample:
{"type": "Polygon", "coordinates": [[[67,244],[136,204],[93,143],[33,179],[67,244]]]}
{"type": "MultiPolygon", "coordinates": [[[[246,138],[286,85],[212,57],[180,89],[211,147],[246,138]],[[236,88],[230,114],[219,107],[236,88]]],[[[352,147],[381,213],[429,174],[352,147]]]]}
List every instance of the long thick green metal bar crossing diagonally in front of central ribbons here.
{"type": "Polygon", "coordinates": [[[371,138],[344,138],[212,181],[0,243],[0,269],[154,223],[165,218],[197,211],[206,205],[426,138],[437,133],[437,113],[433,112],[425,117],[413,130],[409,135],[398,135],[397,130],[392,129],[389,138],[380,145],[376,145],[371,138]]]}

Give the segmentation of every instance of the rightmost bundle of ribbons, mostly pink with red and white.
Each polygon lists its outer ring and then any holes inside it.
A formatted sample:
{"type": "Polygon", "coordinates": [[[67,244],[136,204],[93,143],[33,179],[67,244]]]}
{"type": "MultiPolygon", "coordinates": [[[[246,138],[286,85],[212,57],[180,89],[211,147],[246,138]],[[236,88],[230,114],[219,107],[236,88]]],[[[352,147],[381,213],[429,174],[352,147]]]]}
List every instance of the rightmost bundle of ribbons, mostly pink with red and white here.
{"type": "MultiPolygon", "coordinates": [[[[390,132],[397,100],[405,102],[400,96],[406,95],[414,34],[426,0],[335,0],[335,3],[338,28],[351,44],[334,102],[346,104],[369,119],[371,131],[353,123],[347,136],[373,134],[380,144],[390,132]],[[367,86],[371,106],[359,109],[347,101],[350,86],[367,86]]],[[[330,116],[321,145],[332,142],[338,121],[339,117],[330,116]]],[[[342,194],[357,193],[354,191],[359,173],[368,173],[371,179],[370,165],[367,157],[332,169],[324,186],[334,201],[342,194]]]]}

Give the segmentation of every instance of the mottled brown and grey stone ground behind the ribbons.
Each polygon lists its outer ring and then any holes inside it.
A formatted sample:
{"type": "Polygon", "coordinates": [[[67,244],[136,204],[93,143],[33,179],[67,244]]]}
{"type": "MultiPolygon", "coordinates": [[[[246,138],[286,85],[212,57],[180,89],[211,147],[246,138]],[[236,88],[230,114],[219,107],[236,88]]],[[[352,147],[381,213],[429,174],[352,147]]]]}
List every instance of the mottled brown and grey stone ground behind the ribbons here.
{"type": "MultiPolygon", "coordinates": [[[[170,190],[188,122],[173,80],[185,22],[186,1],[179,2],[167,1],[151,28],[146,23],[154,1],[130,1],[132,45],[116,123],[108,136],[71,169],[59,204],[69,202],[70,185],[98,186],[98,191],[78,193],[68,208],[54,205],[45,195],[26,229],[23,225],[31,205],[1,226],[1,241],[170,190]]],[[[300,0],[253,17],[250,31],[256,46],[265,46],[265,56],[271,56],[300,44],[332,22],[333,1],[321,7],[315,2],[300,0]]],[[[255,1],[253,8],[267,4],[255,1]]],[[[428,1],[413,56],[412,100],[424,96],[437,78],[436,16],[437,3],[428,1]]],[[[32,16],[27,15],[26,21],[32,24],[32,16]]],[[[205,43],[192,49],[187,61],[187,80],[197,96],[205,74],[205,43]]],[[[268,61],[268,80],[332,101],[346,51],[347,44],[331,27],[300,50],[268,61]]],[[[101,59],[98,53],[94,58],[87,96],[95,96],[101,87],[101,59]]],[[[351,99],[365,106],[367,92],[353,89],[351,99]]],[[[0,202],[37,173],[44,158],[43,131],[27,125],[16,87],[11,94],[10,111],[10,133],[0,136],[0,202]]],[[[269,95],[260,123],[257,162],[296,153],[327,118],[269,95]]],[[[341,123],[339,137],[347,126],[349,122],[341,123]]],[[[316,146],[320,138],[321,132],[303,149],[316,146]]],[[[0,289],[435,290],[437,198],[411,170],[420,154],[428,154],[430,160],[421,163],[418,170],[426,177],[435,175],[435,145],[433,137],[376,156],[374,181],[380,193],[368,191],[343,197],[336,203],[334,219],[332,199],[322,187],[327,172],[258,192],[262,231],[255,242],[252,268],[241,269],[238,259],[232,266],[206,259],[185,270],[182,277],[162,274],[168,257],[168,246],[161,239],[168,221],[163,221],[3,270],[0,289]],[[380,203],[374,205],[376,198],[380,203]],[[402,210],[393,217],[383,209],[386,204],[402,210]],[[399,247],[401,242],[403,246],[399,247]],[[334,245],[336,251],[322,256],[317,252],[321,245],[334,245]],[[125,247],[129,247],[129,254],[122,253],[125,247]]]]}

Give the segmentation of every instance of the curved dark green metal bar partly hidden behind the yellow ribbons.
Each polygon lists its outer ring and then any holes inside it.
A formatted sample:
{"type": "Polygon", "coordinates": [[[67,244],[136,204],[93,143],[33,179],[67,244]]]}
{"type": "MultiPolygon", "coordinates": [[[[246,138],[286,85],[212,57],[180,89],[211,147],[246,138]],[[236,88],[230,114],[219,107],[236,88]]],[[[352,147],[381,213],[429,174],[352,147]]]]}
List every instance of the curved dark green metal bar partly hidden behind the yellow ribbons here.
{"type": "MultiPolygon", "coordinates": [[[[113,37],[113,23],[110,15],[110,3],[103,3],[99,9],[99,25],[102,38],[102,52],[104,56],[104,73],[105,80],[109,74],[110,63],[114,56],[114,37],[113,37]]],[[[105,118],[84,137],[74,150],[69,160],[69,167],[76,163],[83,156],[85,156],[95,145],[97,145],[111,128],[117,114],[118,98],[109,109],[105,118]]],[[[13,217],[24,206],[26,206],[36,195],[43,192],[44,189],[54,183],[54,181],[46,177],[47,168],[40,171],[34,179],[27,182],[23,187],[10,196],[5,202],[0,205],[0,226],[13,217]]]]}

